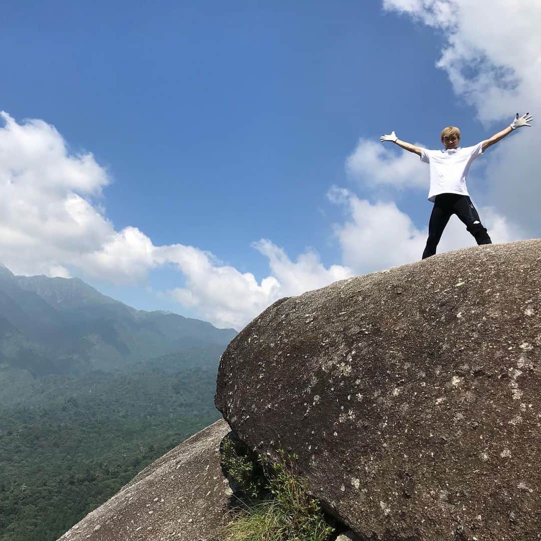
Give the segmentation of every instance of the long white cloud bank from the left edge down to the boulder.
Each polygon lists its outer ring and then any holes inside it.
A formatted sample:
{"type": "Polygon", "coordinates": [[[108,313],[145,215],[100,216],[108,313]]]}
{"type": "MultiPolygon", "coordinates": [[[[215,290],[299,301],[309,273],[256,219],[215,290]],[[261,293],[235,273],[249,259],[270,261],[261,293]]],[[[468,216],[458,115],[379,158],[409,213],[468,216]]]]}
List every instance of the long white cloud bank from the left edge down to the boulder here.
{"type": "Polygon", "coordinates": [[[137,282],[173,265],[183,287],[162,292],[220,327],[242,328],[269,304],[351,275],[322,265],[308,250],[296,261],[269,240],[254,243],[269,260],[260,282],[202,249],[155,246],[137,227],[116,230],[100,205],[110,177],[91,153],[72,155],[58,131],[41,120],[17,123],[1,113],[0,261],[16,274],[95,276],[137,282]]]}

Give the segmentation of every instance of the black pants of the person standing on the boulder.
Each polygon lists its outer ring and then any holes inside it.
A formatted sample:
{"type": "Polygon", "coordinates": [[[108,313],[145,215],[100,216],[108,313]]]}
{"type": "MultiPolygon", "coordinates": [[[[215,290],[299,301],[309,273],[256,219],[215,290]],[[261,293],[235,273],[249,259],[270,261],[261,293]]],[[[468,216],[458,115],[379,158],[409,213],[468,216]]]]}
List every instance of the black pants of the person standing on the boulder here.
{"type": "Polygon", "coordinates": [[[428,240],[423,252],[423,259],[430,258],[436,253],[441,234],[453,214],[456,214],[458,219],[464,223],[478,244],[492,244],[469,195],[439,194],[434,200],[434,208],[430,215],[430,222],[428,222],[428,240]]]}

